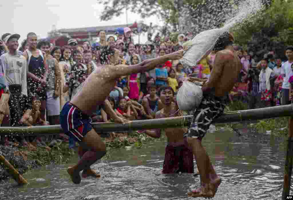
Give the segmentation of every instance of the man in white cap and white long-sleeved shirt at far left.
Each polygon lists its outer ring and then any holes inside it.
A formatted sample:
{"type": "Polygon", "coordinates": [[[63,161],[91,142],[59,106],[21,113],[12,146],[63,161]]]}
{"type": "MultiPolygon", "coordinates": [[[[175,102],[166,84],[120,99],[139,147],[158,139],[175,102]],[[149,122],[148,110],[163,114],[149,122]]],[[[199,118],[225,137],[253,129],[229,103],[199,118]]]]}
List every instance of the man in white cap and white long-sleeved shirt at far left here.
{"type": "MultiPolygon", "coordinates": [[[[11,125],[19,126],[21,115],[27,102],[27,62],[24,56],[18,53],[18,39],[20,35],[10,34],[5,37],[9,52],[0,57],[0,73],[5,77],[4,89],[10,92],[9,108],[11,116],[11,125]]],[[[24,138],[21,138],[22,142],[24,138]]]]}

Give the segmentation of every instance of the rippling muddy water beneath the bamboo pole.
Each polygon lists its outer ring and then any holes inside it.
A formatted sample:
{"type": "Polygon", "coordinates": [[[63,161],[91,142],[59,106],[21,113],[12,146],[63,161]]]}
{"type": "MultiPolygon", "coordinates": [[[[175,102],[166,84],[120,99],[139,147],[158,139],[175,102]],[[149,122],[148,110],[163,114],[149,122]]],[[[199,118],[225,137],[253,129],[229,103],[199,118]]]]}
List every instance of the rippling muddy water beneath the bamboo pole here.
{"type": "MultiPolygon", "coordinates": [[[[207,134],[204,146],[223,179],[214,199],[280,199],[283,140],[247,130],[242,136],[229,131],[207,134]]],[[[186,193],[199,185],[199,177],[161,174],[165,145],[111,150],[107,160],[93,166],[101,179],[83,179],[79,185],[69,181],[66,172],[72,163],[32,170],[24,175],[30,183],[26,186],[13,180],[1,183],[0,199],[191,199],[186,193]]]]}

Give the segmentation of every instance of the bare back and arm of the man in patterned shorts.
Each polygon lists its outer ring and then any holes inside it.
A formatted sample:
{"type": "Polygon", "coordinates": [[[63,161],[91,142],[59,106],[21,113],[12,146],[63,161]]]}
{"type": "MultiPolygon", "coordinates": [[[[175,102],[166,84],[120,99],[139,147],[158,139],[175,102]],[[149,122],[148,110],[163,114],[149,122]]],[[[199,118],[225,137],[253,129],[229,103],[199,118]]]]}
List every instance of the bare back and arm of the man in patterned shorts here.
{"type": "Polygon", "coordinates": [[[237,82],[241,69],[242,64],[234,50],[219,51],[216,54],[211,77],[204,87],[214,88],[215,96],[225,96],[237,82]]]}

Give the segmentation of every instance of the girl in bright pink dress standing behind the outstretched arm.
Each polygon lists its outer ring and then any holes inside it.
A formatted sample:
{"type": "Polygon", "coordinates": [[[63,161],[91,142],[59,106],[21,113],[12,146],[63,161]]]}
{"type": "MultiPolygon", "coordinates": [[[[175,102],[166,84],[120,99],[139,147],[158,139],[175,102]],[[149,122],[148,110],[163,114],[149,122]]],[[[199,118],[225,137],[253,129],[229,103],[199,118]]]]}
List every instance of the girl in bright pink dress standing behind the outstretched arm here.
{"type": "MultiPolygon", "coordinates": [[[[137,54],[134,54],[130,57],[130,64],[135,65],[141,62],[140,56],[137,54]]],[[[127,84],[129,88],[129,98],[139,100],[139,85],[137,83],[137,78],[139,78],[140,74],[132,73],[130,76],[128,76],[127,84]]]]}

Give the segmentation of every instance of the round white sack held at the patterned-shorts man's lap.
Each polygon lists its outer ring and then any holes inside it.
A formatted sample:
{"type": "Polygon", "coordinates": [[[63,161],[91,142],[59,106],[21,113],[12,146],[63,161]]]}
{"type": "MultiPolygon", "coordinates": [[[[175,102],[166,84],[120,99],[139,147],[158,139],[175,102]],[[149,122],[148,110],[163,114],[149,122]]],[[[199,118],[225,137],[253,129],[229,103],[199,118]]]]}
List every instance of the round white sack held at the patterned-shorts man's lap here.
{"type": "Polygon", "coordinates": [[[201,86],[197,86],[189,81],[183,81],[182,86],[177,92],[176,100],[180,110],[194,110],[202,101],[201,86]]]}

